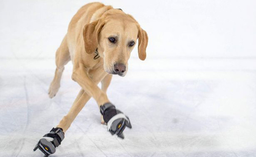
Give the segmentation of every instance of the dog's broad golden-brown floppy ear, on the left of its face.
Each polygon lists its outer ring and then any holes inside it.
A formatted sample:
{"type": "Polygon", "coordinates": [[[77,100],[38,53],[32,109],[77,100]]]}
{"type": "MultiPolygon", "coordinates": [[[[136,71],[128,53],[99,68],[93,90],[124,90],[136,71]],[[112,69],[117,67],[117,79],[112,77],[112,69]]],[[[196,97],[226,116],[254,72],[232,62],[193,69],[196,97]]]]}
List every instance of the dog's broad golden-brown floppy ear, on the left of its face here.
{"type": "Polygon", "coordinates": [[[85,51],[92,54],[98,46],[98,34],[104,26],[103,20],[96,20],[90,24],[86,24],[83,29],[83,37],[85,42],[85,51]]]}

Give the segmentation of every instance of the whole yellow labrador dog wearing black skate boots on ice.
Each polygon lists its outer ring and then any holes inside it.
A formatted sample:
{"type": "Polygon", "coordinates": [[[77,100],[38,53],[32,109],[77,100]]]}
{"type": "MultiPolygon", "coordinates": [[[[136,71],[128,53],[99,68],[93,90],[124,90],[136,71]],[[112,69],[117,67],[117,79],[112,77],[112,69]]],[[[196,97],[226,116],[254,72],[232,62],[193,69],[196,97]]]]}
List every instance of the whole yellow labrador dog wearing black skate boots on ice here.
{"type": "Polygon", "coordinates": [[[106,91],[113,74],[126,75],[130,52],[137,38],[138,55],[144,60],[148,36],[131,15],[99,2],[86,4],[78,10],[56,52],[57,68],[49,97],[53,98],[58,92],[64,65],[70,60],[73,63],[72,79],[82,89],[67,115],[57,128],[40,139],[36,149],[39,148],[46,156],[53,154],[63,140],[64,132],[91,97],[96,100],[103,115],[101,123],[107,123],[109,131],[122,138],[124,127],[131,127],[128,117],[110,103],[106,91]],[[97,86],[99,82],[101,89],[97,86]]]}

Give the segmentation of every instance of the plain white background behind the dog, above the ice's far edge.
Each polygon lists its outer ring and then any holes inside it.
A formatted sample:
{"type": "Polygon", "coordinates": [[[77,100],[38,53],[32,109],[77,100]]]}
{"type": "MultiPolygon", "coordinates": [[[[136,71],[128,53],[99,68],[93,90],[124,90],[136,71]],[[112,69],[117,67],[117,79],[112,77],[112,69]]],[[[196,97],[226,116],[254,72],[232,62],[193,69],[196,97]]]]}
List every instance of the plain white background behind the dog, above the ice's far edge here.
{"type": "MultiPolygon", "coordinates": [[[[90,1],[1,0],[0,56],[54,57],[69,21],[87,2],[90,1]]],[[[254,0],[107,0],[104,3],[122,8],[147,30],[149,56],[256,56],[254,0]]]]}

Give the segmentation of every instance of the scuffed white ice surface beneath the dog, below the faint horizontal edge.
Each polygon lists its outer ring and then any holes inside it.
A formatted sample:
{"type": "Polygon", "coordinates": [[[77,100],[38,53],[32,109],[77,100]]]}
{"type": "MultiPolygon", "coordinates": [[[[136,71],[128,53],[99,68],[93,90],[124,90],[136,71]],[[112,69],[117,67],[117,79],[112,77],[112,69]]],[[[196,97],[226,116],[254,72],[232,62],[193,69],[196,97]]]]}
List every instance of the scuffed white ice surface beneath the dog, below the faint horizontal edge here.
{"type": "MultiPolygon", "coordinates": [[[[256,65],[246,67],[255,61],[131,59],[128,75],[115,76],[108,90],[131,120],[125,140],[100,124],[91,100],[53,157],[255,157],[256,65]],[[217,68],[226,64],[240,68],[217,68]]],[[[70,78],[72,65],[52,100],[47,89],[54,59],[1,65],[0,157],[41,157],[34,145],[59,123],[80,89],[70,78]]]]}

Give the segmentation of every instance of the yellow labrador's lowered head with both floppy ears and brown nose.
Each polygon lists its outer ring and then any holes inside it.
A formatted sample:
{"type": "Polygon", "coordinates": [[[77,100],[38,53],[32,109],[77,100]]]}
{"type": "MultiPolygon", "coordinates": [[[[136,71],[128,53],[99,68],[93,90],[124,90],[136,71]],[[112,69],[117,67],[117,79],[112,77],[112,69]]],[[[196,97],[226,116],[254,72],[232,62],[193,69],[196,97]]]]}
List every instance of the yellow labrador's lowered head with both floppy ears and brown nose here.
{"type": "Polygon", "coordinates": [[[109,74],[125,76],[128,59],[138,38],[138,53],[146,58],[148,35],[134,18],[118,9],[105,12],[99,20],[84,26],[85,51],[92,54],[98,50],[104,60],[104,70],[109,74]]]}

